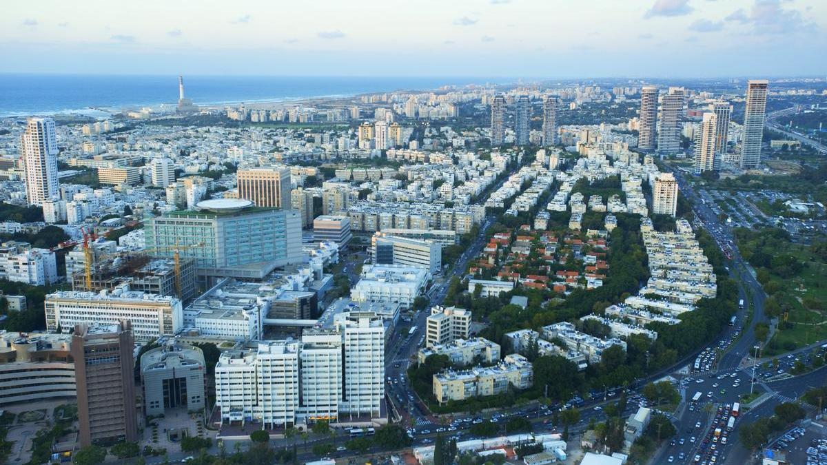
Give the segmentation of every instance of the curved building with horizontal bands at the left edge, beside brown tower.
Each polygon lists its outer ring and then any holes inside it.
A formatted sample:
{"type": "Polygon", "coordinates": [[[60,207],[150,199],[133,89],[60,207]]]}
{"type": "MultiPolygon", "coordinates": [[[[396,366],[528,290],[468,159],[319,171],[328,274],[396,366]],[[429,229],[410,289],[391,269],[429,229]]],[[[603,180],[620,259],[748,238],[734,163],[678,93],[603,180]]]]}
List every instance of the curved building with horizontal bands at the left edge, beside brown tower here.
{"type": "Polygon", "coordinates": [[[0,330],[0,405],[77,395],[69,334],[0,330]]]}

